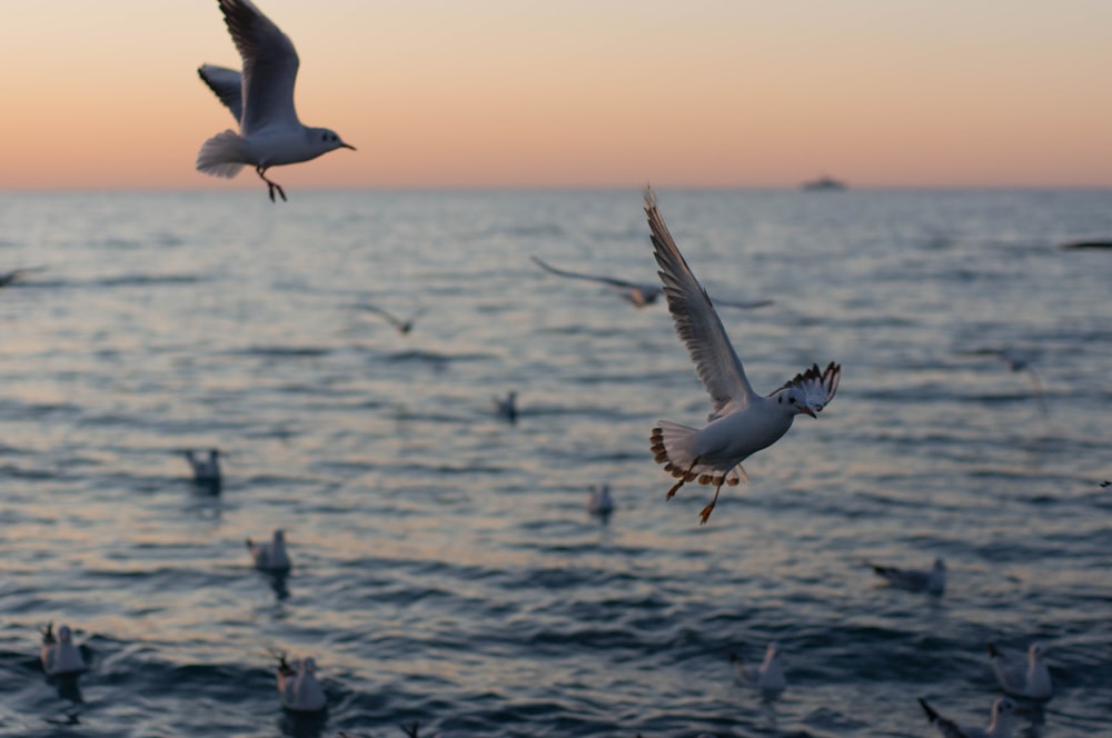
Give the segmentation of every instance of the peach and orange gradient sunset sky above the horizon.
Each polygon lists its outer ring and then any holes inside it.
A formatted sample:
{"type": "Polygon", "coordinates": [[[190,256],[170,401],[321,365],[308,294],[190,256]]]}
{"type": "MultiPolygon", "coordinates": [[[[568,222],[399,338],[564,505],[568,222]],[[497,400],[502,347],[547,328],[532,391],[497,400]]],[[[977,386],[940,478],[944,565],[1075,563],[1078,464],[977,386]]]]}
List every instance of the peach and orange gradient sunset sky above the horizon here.
{"type": "MultiPolygon", "coordinates": [[[[358,147],[285,186],[1112,186],[1108,0],[257,0],[298,113],[358,147]]],[[[0,0],[0,188],[261,187],[215,0],[0,0]]],[[[280,177],[278,176],[280,172],[280,177]]]]}

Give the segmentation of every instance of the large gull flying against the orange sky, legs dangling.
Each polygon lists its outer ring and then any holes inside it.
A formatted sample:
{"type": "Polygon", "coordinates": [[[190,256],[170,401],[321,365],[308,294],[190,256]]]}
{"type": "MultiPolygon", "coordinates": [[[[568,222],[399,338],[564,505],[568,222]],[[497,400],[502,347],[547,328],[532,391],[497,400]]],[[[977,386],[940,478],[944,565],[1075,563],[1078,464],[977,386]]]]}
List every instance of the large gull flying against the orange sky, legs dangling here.
{"type": "Polygon", "coordinates": [[[335,149],[351,149],[327,128],[309,128],[297,119],[294,82],[297,51],[289,37],[259,12],[250,0],[219,0],[224,22],[231,33],[244,71],[202,64],[197,73],[239,123],[239,133],[226,130],[205,141],[197,169],[214,177],[232,178],[245,164],[286,200],[281,186],[267,178],[267,169],[316,159],[335,149]]]}

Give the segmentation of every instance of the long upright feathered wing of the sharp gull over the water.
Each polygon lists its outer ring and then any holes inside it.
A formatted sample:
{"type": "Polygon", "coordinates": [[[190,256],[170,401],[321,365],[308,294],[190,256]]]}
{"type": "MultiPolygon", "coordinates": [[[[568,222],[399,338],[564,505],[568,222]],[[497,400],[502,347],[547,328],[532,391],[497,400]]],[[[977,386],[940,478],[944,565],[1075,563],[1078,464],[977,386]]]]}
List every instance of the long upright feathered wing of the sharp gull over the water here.
{"type": "Polygon", "coordinates": [[[668,232],[653,188],[645,190],[645,215],[653,232],[656,263],[659,265],[664,295],[676,326],[676,332],[687,347],[695,362],[695,371],[703,387],[714,400],[714,412],[726,405],[748,405],[754,398],[753,387],[745,377],[745,369],[737,352],[729,343],[726,329],[714,311],[706,290],[695,279],[684,256],[668,232]]]}

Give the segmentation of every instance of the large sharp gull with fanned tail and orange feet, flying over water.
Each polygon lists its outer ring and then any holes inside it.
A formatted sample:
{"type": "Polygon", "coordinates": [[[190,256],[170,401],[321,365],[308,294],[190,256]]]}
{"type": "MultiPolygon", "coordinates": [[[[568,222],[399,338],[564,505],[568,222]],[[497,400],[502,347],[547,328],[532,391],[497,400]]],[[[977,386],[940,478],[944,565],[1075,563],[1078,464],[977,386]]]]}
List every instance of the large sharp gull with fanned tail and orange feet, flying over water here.
{"type": "Polygon", "coordinates": [[[678,479],[668,490],[672,499],[684,482],[714,485],[714,499],[699,512],[705,523],[718,500],[722,485],[748,480],[742,461],[768,448],[787,432],[795,416],[817,418],[837,391],[842,367],[831,361],[796,375],[767,397],[757,395],[745,377],[742,360],[726,329],[695,275],[684,260],[656,208],[653,188],[645,190],[645,213],[653,233],[658,272],[676,332],[687,346],[699,381],[711,395],[714,410],[702,430],[661,420],[653,429],[652,450],[678,479]]]}

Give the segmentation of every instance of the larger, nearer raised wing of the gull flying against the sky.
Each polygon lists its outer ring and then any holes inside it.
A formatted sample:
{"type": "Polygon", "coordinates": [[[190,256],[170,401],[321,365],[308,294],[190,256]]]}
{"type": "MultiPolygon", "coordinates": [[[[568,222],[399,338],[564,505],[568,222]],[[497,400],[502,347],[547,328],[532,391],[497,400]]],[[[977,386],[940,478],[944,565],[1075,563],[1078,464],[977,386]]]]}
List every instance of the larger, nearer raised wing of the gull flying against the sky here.
{"type": "Polygon", "coordinates": [[[289,37],[250,0],[220,0],[220,10],[244,59],[240,132],[250,136],[267,126],[300,124],[294,109],[298,59],[289,37]]]}

